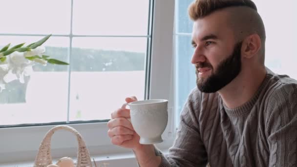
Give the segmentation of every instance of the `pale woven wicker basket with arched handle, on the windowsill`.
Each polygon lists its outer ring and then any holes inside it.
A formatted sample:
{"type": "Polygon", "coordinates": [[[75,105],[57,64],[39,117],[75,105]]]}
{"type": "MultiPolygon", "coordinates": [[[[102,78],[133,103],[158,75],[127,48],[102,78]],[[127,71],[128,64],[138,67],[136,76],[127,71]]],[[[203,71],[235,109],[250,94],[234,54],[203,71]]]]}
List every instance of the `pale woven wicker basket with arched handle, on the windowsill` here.
{"type": "Polygon", "coordinates": [[[90,154],[85,146],[85,141],[82,135],[75,130],[73,127],[67,125],[58,125],[51,128],[44,136],[42,143],[39,147],[38,154],[36,156],[34,167],[46,167],[52,164],[51,157],[51,137],[57,130],[67,130],[76,135],[78,141],[78,154],[77,154],[77,165],[76,167],[92,167],[92,162],[90,159],[90,154]]]}

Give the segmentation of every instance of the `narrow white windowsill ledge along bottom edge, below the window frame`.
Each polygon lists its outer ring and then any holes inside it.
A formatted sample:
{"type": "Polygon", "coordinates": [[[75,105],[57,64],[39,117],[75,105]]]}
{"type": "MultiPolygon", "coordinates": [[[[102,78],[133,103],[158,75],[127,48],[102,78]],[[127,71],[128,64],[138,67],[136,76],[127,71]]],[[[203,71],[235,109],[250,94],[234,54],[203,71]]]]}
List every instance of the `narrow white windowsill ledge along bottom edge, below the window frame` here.
{"type": "MultiPolygon", "coordinates": [[[[169,150],[160,149],[163,154],[168,155],[169,150]]],[[[73,157],[72,157],[73,158],[73,157]]],[[[76,157],[73,158],[76,161],[76,157]]],[[[106,154],[105,156],[92,156],[91,161],[96,162],[97,167],[138,167],[135,159],[135,155],[132,151],[127,153],[118,153],[118,154],[106,154]]],[[[55,159],[54,163],[57,162],[55,159]]],[[[92,164],[95,167],[94,163],[92,164]]],[[[34,161],[24,161],[18,163],[6,163],[0,164],[0,167],[33,167],[34,161]]]]}

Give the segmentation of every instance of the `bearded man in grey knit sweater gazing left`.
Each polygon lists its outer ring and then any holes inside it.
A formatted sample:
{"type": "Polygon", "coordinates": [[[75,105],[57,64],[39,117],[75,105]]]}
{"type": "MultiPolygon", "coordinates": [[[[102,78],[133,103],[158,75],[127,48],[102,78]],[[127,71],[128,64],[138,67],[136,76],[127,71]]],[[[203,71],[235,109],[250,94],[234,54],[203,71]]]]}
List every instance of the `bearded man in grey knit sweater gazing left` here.
{"type": "Polygon", "coordinates": [[[112,143],[133,149],[140,167],[296,167],[297,81],[265,67],[265,28],[255,3],[196,0],[189,15],[197,87],[170,154],[139,144],[128,109],[111,115],[112,143]]]}

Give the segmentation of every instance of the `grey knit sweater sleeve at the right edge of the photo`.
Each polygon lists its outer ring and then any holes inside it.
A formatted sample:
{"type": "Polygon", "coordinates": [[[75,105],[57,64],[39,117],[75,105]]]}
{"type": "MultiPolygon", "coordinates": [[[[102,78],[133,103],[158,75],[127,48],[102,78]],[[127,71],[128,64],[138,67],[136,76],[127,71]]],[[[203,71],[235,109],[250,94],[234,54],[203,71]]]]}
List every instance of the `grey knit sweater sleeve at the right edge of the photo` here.
{"type": "Polygon", "coordinates": [[[297,166],[297,84],[276,88],[268,102],[269,167],[297,166]]]}

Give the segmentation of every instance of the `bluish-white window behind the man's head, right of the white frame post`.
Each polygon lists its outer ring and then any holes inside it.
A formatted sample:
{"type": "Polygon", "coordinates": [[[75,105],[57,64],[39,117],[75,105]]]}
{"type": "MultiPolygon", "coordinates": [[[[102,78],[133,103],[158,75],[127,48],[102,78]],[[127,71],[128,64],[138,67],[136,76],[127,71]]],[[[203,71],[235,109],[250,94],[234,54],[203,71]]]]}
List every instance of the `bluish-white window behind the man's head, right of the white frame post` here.
{"type": "MultiPolygon", "coordinates": [[[[264,0],[253,1],[266,29],[265,65],[277,74],[287,74],[297,79],[294,67],[297,63],[295,49],[297,12],[294,8],[297,2],[288,0],[286,4],[279,4],[276,1],[269,1],[269,3],[264,0]],[[285,7],[280,7],[280,5],[285,5],[285,7]]],[[[192,21],[187,11],[191,2],[192,0],[175,1],[175,118],[177,122],[188,94],[196,86],[196,75],[191,65],[192,21]]]]}

